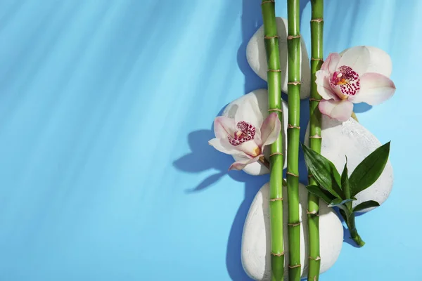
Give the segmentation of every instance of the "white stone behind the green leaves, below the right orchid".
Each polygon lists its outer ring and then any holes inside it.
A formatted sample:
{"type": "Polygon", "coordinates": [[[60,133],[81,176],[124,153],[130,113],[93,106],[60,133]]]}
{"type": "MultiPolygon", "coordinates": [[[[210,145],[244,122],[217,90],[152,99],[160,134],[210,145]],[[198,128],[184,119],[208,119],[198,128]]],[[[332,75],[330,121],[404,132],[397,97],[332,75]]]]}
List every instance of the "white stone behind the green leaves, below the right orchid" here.
{"type": "MultiPolygon", "coordinates": [[[[346,122],[339,122],[322,115],[322,144],[321,154],[329,159],[341,174],[345,166],[347,155],[347,170],[350,174],[362,160],[382,144],[373,134],[356,120],[350,118],[346,122]]],[[[309,143],[309,124],[305,136],[305,144],[309,143]]],[[[380,205],[387,200],[392,190],[393,175],[390,161],[378,180],[369,188],[356,195],[357,201],[353,207],[368,200],[374,200],[380,205]]],[[[364,209],[361,212],[371,211],[364,209]]]]}

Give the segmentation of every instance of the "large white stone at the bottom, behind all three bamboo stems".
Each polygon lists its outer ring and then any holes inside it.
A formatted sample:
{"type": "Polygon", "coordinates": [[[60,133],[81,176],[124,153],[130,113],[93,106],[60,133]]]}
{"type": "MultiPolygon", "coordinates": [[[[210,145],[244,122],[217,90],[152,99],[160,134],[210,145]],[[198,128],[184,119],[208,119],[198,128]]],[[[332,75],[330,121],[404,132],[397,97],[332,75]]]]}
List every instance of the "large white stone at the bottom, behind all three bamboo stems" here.
{"type": "MultiPolygon", "coordinates": [[[[308,230],[307,230],[307,190],[299,185],[300,201],[300,256],[302,277],[307,275],[308,266],[308,230]]],[[[287,198],[286,188],[283,197],[287,198]]],[[[285,247],[285,276],[288,275],[288,200],[283,200],[283,237],[285,247]]],[[[337,261],[343,246],[343,225],[333,209],[320,200],[320,256],[321,273],[331,268],[337,261]]],[[[269,183],[266,183],[255,196],[250,206],[243,228],[241,259],[243,268],[254,280],[271,280],[271,242],[269,226],[269,183]]],[[[285,280],[287,280],[285,278],[285,280]]]]}

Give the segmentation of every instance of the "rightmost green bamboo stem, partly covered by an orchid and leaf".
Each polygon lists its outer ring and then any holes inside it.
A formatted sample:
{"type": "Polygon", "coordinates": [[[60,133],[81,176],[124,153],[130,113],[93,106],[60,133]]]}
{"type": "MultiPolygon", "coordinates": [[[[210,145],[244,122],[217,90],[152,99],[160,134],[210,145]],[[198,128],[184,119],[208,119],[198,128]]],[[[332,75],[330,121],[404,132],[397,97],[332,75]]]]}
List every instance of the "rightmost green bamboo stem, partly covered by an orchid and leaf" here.
{"type": "MultiPolygon", "coordinates": [[[[321,96],[316,89],[316,72],[323,63],[323,32],[324,32],[324,0],[311,0],[311,97],[309,98],[309,145],[310,148],[321,153],[321,112],[318,104],[321,96]]],[[[309,184],[318,185],[309,174],[309,184]]],[[[321,256],[319,256],[319,197],[308,193],[308,231],[309,231],[309,270],[308,281],[319,280],[321,256]]]]}

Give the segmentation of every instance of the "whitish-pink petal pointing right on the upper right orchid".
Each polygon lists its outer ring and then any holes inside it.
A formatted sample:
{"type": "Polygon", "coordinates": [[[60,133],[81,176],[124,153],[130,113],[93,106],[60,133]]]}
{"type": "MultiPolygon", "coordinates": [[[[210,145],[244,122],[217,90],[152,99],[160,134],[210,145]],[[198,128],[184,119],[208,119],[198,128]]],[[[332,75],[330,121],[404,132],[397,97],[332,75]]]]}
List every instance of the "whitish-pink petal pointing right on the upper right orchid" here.
{"type": "Polygon", "coordinates": [[[353,103],[379,105],[395,93],[395,84],[390,78],[379,73],[365,73],[360,79],[361,89],[352,99],[353,103]]]}

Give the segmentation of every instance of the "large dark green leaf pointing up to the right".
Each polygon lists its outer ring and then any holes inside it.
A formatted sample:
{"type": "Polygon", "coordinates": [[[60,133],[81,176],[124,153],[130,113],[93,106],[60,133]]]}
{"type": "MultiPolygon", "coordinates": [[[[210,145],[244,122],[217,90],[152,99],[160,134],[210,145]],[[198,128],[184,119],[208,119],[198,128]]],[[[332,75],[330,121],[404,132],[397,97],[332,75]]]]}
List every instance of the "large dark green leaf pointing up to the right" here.
{"type": "Polygon", "coordinates": [[[381,176],[387,164],[388,154],[390,153],[390,142],[377,148],[368,157],[366,157],[349,178],[351,195],[369,188],[381,176]]]}

